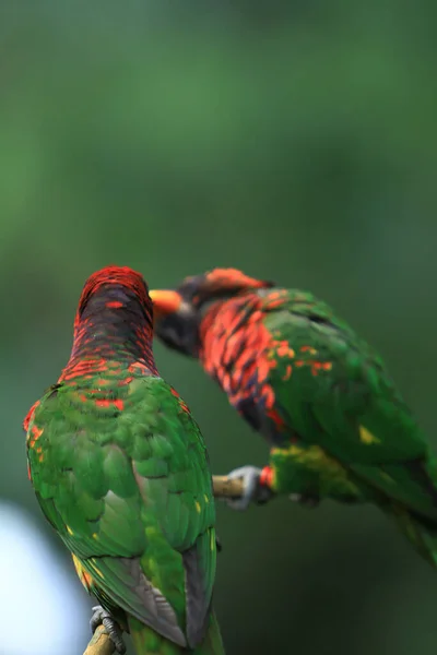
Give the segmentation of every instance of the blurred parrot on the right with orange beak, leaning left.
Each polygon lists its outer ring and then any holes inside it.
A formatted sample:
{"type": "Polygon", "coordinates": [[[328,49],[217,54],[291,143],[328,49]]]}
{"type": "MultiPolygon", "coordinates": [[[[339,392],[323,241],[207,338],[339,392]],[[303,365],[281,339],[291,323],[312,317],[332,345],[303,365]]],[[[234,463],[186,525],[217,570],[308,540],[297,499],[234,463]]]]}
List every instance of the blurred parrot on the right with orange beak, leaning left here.
{"type": "Polygon", "coordinates": [[[155,336],[198,359],[269,444],[236,510],[288,495],[374,503],[437,564],[436,461],[380,356],[326,302],[236,269],[150,291],[155,336]]]}

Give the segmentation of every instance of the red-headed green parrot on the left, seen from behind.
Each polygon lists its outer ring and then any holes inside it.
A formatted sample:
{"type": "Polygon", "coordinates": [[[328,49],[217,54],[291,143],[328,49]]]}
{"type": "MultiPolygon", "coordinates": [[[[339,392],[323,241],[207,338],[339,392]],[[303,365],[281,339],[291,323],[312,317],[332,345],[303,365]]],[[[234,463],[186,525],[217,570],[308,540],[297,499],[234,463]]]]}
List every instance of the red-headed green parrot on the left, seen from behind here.
{"type": "Polygon", "coordinates": [[[200,429],[153,356],[142,275],[106,266],[83,287],[67,366],[31,407],[28,477],[97,599],[117,652],[223,655],[212,608],[215,508],[200,429]]]}

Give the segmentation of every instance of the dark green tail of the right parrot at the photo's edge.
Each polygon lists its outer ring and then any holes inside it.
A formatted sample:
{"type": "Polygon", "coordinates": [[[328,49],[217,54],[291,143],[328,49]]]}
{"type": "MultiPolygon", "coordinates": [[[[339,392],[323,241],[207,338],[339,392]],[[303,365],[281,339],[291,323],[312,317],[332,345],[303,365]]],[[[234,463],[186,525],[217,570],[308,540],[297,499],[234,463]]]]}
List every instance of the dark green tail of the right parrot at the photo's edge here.
{"type": "Polygon", "coordinates": [[[386,511],[422,557],[437,568],[437,522],[398,503],[391,504],[390,509],[386,508],[386,511]]]}

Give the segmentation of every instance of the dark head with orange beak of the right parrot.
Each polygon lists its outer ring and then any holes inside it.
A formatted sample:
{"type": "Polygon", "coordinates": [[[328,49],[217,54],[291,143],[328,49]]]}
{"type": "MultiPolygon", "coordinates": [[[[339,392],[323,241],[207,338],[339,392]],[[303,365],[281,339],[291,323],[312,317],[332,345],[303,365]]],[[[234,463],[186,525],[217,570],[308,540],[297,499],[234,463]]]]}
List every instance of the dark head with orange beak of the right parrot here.
{"type": "Polygon", "coordinates": [[[151,290],[155,335],[169,348],[198,357],[199,329],[212,305],[272,286],[237,269],[214,269],[186,277],[175,290],[151,290]]]}

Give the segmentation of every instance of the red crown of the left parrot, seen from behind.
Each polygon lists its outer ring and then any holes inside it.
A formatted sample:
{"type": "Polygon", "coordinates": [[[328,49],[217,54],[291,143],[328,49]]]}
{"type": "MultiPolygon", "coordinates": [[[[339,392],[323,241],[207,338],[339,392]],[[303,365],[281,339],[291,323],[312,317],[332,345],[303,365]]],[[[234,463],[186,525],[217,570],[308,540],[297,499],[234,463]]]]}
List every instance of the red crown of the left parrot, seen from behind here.
{"type": "Polygon", "coordinates": [[[109,312],[119,321],[140,319],[152,327],[153,306],[140,273],[128,266],[106,266],[87,278],[79,300],[75,327],[86,319],[103,318],[109,312]]]}

